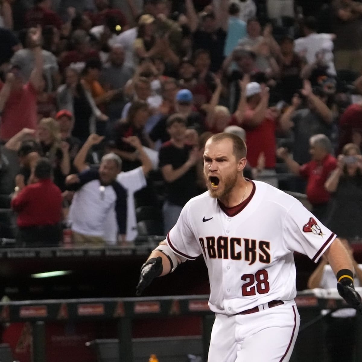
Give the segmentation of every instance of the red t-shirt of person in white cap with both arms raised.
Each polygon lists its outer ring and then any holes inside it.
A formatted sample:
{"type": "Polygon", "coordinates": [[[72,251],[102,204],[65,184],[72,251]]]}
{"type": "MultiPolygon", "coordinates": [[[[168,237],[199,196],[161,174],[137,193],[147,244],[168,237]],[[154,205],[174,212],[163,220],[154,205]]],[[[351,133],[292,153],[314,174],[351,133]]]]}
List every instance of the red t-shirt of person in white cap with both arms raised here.
{"type": "MultiPolygon", "coordinates": [[[[276,138],[275,138],[275,130],[276,130],[276,119],[269,114],[267,111],[266,117],[261,122],[261,124],[257,127],[250,126],[250,120],[253,117],[254,110],[247,109],[245,111],[243,123],[241,127],[244,128],[246,133],[246,144],[247,144],[247,159],[251,165],[251,167],[257,167],[258,158],[262,152],[264,152],[265,156],[265,168],[275,168],[276,160],[276,138]]],[[[231,118],[231,125],[236,125],[237,120],[236,117],[231,118]]]]}

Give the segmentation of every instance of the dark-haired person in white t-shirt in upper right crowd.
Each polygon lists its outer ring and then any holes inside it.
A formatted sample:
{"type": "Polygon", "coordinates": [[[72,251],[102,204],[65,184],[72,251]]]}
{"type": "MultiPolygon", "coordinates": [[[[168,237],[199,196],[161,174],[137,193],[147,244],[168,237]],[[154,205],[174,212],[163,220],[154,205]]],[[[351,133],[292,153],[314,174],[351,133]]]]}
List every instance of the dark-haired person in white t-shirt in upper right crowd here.
{"type": "Polygon", "coordinates": [[[333,63],[333,39],[334,34],[325,34],[316,32],[317,20],[313,16],[308,16],[304,20],[304,37],[295,39],[294,51],[297,54],[305,56],[308,64],[316,63],[318,58],[322,58],[325,65],[328,66],[328,73],[336,75],[336,69],[333,63]]]}

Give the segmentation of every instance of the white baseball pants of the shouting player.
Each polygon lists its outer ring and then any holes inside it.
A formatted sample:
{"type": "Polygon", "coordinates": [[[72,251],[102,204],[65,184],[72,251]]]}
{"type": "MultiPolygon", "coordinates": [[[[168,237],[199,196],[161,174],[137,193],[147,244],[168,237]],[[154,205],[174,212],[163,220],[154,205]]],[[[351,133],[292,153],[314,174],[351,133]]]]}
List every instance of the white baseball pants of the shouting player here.
{"type": "Polygon", "coordinates": [[[252,314],[216,314],[208,362],[288,362],[299,331],[295,305],[252,314]]]}

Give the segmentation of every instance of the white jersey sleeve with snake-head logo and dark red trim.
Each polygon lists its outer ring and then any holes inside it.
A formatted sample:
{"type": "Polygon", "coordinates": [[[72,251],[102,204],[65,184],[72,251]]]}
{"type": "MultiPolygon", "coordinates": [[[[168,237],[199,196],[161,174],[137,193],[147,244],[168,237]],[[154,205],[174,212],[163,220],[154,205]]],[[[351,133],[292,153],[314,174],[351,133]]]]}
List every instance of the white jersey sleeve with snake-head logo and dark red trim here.
{"type": "Polygon", "coordinates": [[[285,217],[283,239],[290,251],[296,251],[317,262],[336,235],[325,227],[302,203],[295,201],[285,217]]]}

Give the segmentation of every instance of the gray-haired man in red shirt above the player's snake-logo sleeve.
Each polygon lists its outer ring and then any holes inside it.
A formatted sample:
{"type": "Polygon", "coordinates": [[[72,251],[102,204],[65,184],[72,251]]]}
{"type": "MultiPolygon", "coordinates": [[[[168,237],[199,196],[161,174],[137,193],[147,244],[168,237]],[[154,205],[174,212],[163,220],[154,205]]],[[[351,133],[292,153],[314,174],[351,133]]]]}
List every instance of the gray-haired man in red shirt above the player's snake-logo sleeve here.
{"type": "Polygon", "coordinates": [[[316,134],[311,136],[309,144],[312,160],[303,165],[299,165],[298,162],[293,160],[286,148],[279,148],[277,155],[285,161],[292,173],[306,178],[306,193],[308,201],[313,207],[312,213],[323,222],[327,214],[330,198],[324,184],[331,172],[337,167],[337,160],[331,154],[331,141],[326,135],[316,134]]]}

